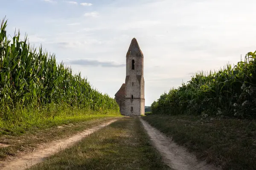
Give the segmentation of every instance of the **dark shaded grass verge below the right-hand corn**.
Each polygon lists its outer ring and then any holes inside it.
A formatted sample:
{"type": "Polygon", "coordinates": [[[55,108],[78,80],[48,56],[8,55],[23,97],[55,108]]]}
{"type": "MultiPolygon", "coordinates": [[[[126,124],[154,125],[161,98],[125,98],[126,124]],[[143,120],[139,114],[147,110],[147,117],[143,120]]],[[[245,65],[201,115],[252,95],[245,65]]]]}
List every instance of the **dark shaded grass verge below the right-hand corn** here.
{"type": "Polygon", "coordinates": [[[223,170],[256,170],[256,120],[149,115],[144,120],[223,170]]]}

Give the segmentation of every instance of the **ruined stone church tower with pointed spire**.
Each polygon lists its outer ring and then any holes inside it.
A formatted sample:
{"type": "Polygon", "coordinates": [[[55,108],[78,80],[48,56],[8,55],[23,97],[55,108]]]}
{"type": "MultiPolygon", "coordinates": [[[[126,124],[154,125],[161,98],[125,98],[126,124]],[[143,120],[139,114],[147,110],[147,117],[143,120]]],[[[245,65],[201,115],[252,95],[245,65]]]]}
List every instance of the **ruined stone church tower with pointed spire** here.
{"type": "Polygon", "coordinates": [[[143,64],[143,53],[133,38],[126,54],[125,84],[115,94],[122,115],[145,115],[143,64]]]}

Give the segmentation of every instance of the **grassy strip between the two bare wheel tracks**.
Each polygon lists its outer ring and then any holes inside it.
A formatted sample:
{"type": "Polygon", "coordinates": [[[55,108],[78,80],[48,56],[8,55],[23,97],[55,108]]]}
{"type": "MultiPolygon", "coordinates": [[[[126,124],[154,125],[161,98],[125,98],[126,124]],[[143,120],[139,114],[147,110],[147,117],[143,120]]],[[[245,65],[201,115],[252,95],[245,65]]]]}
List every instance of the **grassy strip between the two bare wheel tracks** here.
{"type": "Polygon", "coordinates": [[[122,118],[30,170],[167,170],[139,118],[122,118]]]}

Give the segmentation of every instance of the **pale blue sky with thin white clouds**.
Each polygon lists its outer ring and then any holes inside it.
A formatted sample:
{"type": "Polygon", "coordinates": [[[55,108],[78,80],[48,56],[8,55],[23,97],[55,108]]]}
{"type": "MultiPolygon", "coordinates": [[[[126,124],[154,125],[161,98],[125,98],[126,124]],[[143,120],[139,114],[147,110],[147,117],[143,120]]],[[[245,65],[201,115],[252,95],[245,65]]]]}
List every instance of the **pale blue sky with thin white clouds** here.
{"type": "Polygon", "coordinates": [[[145,105],[198,71],[236,64],[256,50],[255,0],[0,0],[7,33],[81,72],[114,97],[132,38],[144,55],[145,105]]]}

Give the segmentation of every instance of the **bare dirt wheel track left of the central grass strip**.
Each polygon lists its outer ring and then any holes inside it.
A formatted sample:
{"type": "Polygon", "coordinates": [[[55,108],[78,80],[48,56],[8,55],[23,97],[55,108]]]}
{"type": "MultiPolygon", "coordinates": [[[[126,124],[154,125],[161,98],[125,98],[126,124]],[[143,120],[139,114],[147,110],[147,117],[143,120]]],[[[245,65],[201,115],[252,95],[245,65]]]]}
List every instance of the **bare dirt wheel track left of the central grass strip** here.
{"type": "MultiPolygon", "coordinates": [[[[63,150],[67,147],[72,146],[75,142],[80,141],[85,136],[90,135],[91,133],[102,129],[103,127],[110,125],[111,123],[115,122],[117,119],[113,119],[109,122],[102,123],[93,128],[89,128],[84,130],[81,133],[77,133],[76,135],[62,140],[54,140],[47,144],[47,147],[38,147],[35,149],[34,152],[24,155],[20,158],[14,159],[5,164],[5,167],[2,170],[24,170],[31,167],[34,164],[37,164],[44,160],[45,157],[50,156],[60,150],[63,150]]],[[[0,168],[1,169],[1,168],[0,168]]]]}

